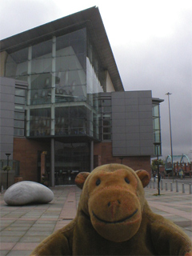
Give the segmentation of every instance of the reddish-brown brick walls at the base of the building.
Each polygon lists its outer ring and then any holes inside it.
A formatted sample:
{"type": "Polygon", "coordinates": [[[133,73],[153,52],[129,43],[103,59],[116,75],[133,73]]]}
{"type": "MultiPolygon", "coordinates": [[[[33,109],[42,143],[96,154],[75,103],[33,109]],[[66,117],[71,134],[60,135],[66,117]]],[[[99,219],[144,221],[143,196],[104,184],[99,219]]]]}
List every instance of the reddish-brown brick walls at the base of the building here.
{"type": "MultiPolygon", "coordinates": [[[[23,180],[38,182],[38,151],[50,151],[50,142],[39,142],[26,138],[14,138],[14,160],[20,161],[20,175],[23,180]]],[[[94,168],[109,163],[122,163],[134,170],[147,170],[150,173],[149,157],[114,157],[112,143],[94,144],[94,168]]]]}

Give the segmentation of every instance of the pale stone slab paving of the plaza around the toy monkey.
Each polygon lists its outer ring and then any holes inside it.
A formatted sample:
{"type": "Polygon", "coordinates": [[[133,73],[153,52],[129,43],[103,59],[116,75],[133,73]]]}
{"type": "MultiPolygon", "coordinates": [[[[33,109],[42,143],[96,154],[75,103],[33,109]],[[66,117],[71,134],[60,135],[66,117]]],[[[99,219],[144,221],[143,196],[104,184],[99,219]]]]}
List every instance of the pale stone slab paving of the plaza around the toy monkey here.
{"type": "MultiPolygon", "coordinates": [[[[69,223],[75,216],[81,190],[77,186],[51,188],[54,200],[45,205],[7,206],[0,194],[0,255],[29,255],[42,239],[69,223]]],[[[151,209],[182,228],[192,240],[192,197],[146,188],[151,209]]]]}

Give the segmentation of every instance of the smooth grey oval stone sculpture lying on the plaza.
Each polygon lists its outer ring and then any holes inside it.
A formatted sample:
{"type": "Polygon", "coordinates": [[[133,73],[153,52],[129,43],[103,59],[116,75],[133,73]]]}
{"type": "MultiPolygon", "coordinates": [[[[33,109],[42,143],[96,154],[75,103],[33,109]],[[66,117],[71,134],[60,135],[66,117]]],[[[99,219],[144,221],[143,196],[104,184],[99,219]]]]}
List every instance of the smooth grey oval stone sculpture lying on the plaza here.
{"type": "Polygon", "coordinates": [[[54,193],[37,182],[17,182],[4,194],[4,201],[10,206],[24,206],[31,203],[48,203],[54,199],[54,193]]]}

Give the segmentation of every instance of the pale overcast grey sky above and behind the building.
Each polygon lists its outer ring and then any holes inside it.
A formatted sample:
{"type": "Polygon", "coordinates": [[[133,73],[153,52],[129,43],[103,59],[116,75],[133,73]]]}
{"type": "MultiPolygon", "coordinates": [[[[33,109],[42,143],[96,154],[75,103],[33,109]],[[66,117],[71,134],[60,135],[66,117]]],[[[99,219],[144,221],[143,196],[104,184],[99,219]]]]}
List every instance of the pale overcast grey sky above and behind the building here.
{"type": "Polygon", "coordinates": [[[98,6],[125,90],[162,98],[162,158],[192,158],[191,0],[2,0],[0,39],[98,6]]]}

